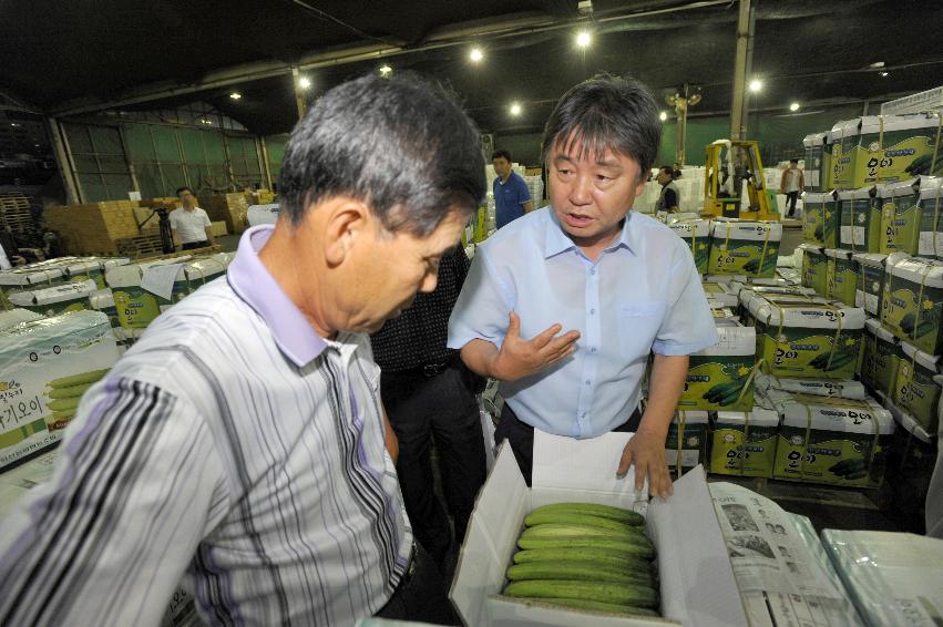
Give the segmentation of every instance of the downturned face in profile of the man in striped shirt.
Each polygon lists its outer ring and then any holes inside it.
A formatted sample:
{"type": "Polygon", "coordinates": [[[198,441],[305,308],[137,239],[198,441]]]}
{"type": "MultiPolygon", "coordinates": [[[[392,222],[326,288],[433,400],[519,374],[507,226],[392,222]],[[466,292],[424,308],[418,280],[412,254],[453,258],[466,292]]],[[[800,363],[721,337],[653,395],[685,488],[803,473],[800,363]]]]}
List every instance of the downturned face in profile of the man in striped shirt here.
{"type": "Polygon", "coordinates": [[[373,218],[351,258],[349,290],[345,296],[346,328],[378,331],[412,305],[419,291],[435,289],[439,260],[462,235],[464,214],[452,210],[428,237],[390,234],[373,218]]]}

